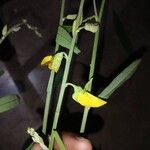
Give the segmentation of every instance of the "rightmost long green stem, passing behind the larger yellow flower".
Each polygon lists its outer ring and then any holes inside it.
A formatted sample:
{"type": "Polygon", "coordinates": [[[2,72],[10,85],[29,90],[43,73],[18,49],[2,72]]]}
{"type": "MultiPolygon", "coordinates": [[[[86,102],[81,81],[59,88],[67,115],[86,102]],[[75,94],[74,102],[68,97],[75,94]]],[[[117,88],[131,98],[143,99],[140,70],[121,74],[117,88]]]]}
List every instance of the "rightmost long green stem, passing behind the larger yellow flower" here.
{"type": "MultiPolygon", "coordinates": [[[[104,10],[104,4],[105,4],[105,0],[102,0],[101,8],[100,8],[99,16],[98,16],[98,22],[99,23],[101,23],[101,20],[102,20],[102,14],[103,14],[103,10],[104,10]]],[[[98,30],[95,33],[95,37],[94,37],[94,46],[93,46],[92,60],[91,60],[91,65],[90,65],[89,80],[94,75],[95,62],[96,62],[96,54],[97,54],[97,48],[98,48],[98,42],[99,42],[99,34],[100,34],[100,30],[98,30]]],[[[92,88],[92,84],[91,84],[91,87],[89,87],[88,91],[91,91],[91,88],[92,88]]],[[[80,128],[80,133],[84,133],[84,131],[85,131],[85,126],[86,126],[86,122],[87,122],[87,117],[88,117],[89,110],[90,110],[89,107],[85,107],[84,108],[84,113],[83,113],[82,123],[81,123],[81,128],[80,128]]]]}

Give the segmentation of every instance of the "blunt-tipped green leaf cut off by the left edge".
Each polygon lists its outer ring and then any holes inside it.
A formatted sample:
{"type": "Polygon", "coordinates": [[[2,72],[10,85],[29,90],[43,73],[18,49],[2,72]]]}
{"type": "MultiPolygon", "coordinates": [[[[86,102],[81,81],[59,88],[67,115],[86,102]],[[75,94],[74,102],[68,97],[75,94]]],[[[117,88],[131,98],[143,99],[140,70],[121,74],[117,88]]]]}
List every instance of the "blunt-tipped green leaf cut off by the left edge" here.
{"type": "Polygon", "coordinates": [[[15,94],[6,95],[0,98],[0,113],[8,111],[20,104],[20,98],[15,94]]]}

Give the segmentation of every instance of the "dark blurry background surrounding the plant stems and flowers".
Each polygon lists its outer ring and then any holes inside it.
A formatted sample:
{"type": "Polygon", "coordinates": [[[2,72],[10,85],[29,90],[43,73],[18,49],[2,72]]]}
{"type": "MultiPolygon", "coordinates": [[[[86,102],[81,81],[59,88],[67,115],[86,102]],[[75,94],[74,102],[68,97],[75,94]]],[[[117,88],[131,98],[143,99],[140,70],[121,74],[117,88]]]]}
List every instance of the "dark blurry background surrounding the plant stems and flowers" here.
{"type": "MultiPolygon", "coordinates": [[[[66,1],[65,14],[76,13],[78,4],[77,0],[66,1]]],[[[84,9],[86,16],[92,13],[90,0],[86,0],[84,9]]],[[[25,18],[43,34],[38,38],[24,27],[1,45],[0,67],[5,73],[0,77],[0,96],[17,93],[21,104],[0,114],[0,150],[23,149],[28,138],[26,128],[39,129],[41,126],[49,71],[40,66],[40,61],[54,52],[59,10],[58,0],[0,1],[1,29],[5,24],[11,27],[25,18]]],[[[102,40],[97,55],[95,93],[133,57],[142,57],[142,62],[136,73],[110,97],[107,105],[91,112],[89,128],[93,130],[89,138],[98,150],[146,150],[150,147],[149,1],[106,0],[100,27],[102,40]]],[[[92,39],[92,33],[81,33],[79,47],[82,53],[75,58],[71,71],[70,80],[82,86],[87,82],[92,39]]],[[[73,114],[73,120],[78,120],[77,112],[82,112],[83,108],[69,100],[65,106],[69,114],[73,114]]],[[[70,122],[72,118],[69,118],[70,122]]]]}

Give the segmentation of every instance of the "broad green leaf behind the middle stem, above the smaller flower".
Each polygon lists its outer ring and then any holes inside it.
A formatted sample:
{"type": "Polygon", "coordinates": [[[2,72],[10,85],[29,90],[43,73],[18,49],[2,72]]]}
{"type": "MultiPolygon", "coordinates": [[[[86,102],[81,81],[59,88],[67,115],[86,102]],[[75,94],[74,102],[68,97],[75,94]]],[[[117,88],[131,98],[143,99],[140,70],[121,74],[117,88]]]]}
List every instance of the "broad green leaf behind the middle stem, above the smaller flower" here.
{"type": "MultiPolygon", "coordinates": [[[[70,36],[70,34],[63,27],[59,26],[57,36],[56,36],[56,43],[58,43],[59,45],[65,48],[70,49],[71,42],[72,42],[72,37],[70,36]]],[[[74,52],[76,54],[80,53],[80,50],[78,49],[77,46],[75,46],[74,52]]]]}

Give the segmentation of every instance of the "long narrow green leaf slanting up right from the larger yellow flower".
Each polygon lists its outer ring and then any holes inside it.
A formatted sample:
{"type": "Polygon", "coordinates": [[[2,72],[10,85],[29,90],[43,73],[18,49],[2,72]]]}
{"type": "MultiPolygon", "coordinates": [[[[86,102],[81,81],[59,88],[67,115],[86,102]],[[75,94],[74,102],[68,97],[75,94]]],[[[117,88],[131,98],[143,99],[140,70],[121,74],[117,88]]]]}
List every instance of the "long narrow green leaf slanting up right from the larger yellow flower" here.
{"type": "Polygon", "coordinates": [[[137,59],[132,62],[127,68],[125,68],[113,81],[98,95],[103,99],[108,99],[113,92],[116,91],[125,81],[127,81],[133,73],[136,71],[141,59],[137,59]]]}

